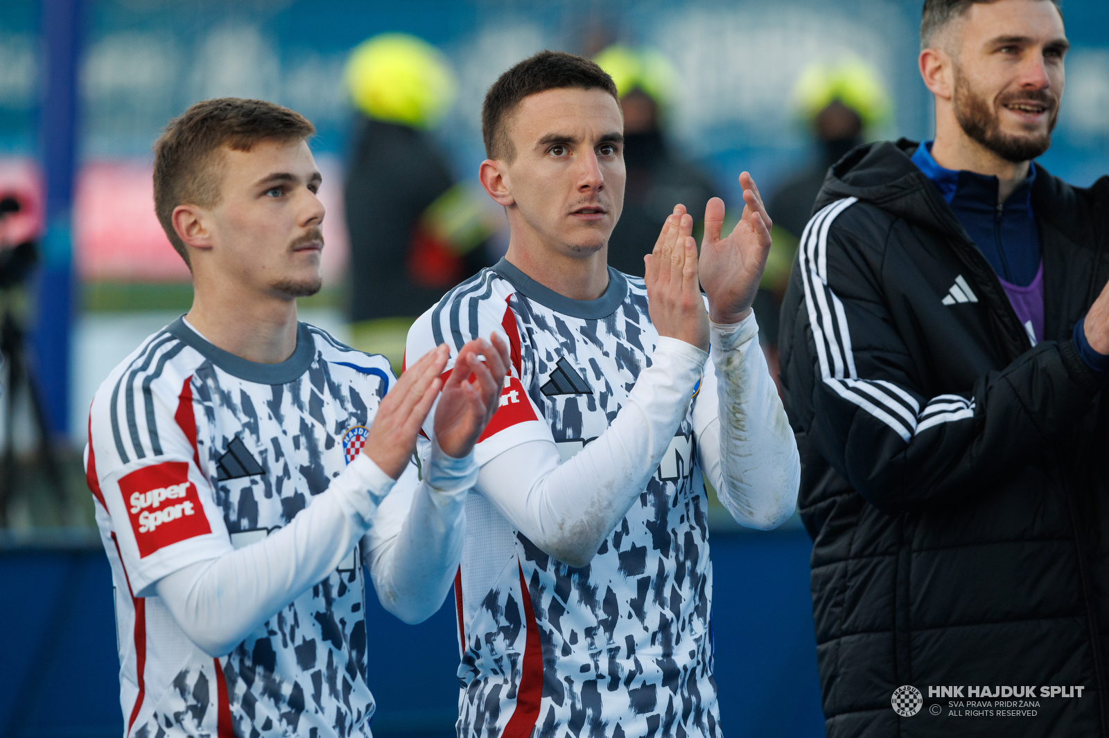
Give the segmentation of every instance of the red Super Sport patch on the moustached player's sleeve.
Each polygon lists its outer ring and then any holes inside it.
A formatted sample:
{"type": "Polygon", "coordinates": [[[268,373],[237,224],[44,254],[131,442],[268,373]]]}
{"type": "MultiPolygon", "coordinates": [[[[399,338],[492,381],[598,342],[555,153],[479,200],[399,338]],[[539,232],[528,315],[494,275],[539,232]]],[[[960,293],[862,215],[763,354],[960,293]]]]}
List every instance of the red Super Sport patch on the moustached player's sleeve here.
{"type": "Polygon", "coordinates": [[[162,546],[211,533],[187,461],[138,469],[120,480],[131,530],[143,558],[162,546]]]}

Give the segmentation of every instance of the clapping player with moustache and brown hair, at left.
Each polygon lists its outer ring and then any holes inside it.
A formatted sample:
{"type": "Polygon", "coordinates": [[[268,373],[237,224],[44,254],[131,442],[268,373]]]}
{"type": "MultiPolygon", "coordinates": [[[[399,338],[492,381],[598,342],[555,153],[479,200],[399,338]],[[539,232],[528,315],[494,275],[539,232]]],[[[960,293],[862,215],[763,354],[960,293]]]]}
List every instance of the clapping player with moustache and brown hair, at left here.
{"type": "Polygon", "coordinates": [[[155,209],[195,297],[101,385],[87,450],[128,736],[369,736],[366,572],[416,623],[458,566],[507,345],[466,342],[447,379],[429,351],[397,380],[297,322],[324,246],[313,133],[223,99],[155,145],[155,209]]]}

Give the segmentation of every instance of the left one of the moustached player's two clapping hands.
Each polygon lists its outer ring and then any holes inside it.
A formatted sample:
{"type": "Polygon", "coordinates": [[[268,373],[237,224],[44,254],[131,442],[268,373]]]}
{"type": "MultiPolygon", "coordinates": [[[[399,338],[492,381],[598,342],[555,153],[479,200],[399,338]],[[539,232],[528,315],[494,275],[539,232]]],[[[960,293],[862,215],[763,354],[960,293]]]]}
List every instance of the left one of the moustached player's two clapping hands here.
{"type": "Polygon", "coordinates": [[[408,367],[377,406],[377,414],[362,452],[381,471],[397,479],[416,450],[416,434],[431,410],[442,380],[450,349],[437,346],[408,367]]]}

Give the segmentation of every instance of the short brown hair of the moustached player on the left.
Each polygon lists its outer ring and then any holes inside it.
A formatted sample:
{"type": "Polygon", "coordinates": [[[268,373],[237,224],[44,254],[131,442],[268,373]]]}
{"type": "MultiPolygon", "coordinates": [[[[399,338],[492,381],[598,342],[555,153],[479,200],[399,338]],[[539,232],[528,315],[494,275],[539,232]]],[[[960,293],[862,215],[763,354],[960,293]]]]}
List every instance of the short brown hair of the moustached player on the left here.
{"type": "Polygon", "coordinates": [[[154,213],[185,264],[189,252],[173,229],[173,209],[185,203],[220,203],[220,150],[251,151],[263,141],[298,141],[315,132],[306,117],[288,107],[240,98],[205,100],[170,121],[154,142],[154,213]]]}

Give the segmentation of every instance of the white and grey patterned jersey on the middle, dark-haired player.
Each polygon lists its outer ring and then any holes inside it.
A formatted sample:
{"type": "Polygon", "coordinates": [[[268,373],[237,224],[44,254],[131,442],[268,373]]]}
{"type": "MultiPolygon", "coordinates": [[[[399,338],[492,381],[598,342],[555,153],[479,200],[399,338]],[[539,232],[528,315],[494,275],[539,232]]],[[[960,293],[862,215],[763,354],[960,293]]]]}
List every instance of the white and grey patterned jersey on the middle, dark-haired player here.
{"type": "MultiPolygon", "coordinates": [[[[409,361],[439,344],[457,355],[470,339],[507,334],[511,377],[475,449],[478,463],[541,439],[566,460],[615,418],[659,335],[643,280],[611,268],[609,277],[602,297],[579,301],[501,259],[413,326],[409,361]]],[[[459,738],[720,735],[692,412],[691,403],[654,476],[588,566],[547,555],[470,492],[455,583],[459,738]]]]}

